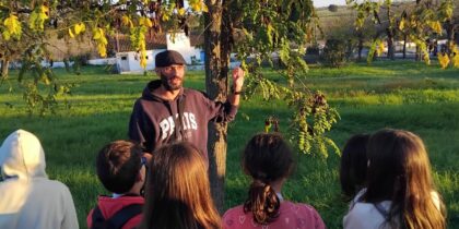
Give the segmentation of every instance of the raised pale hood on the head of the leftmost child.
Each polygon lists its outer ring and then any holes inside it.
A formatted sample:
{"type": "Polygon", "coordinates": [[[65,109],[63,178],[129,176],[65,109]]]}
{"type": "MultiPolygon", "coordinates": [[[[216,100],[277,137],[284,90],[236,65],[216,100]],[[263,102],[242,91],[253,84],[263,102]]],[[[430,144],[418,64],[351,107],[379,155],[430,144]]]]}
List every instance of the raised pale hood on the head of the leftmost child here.
{"type": "Polygon", "coordinates": [[[46,178],[45,152],[32,133],[17,130],[0,147],[0,167],[3,178],[46,178]]]}

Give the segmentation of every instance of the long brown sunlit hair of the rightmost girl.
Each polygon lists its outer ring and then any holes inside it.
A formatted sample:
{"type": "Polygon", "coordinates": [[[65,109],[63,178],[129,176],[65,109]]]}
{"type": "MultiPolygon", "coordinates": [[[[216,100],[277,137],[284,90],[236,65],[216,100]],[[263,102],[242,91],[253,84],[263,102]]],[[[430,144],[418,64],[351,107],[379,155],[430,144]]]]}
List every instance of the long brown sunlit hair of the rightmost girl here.
{"type": "Polygon", "coordinates": [[[427,153],[417,135],[385,129],[370,136],[367,152],[368,183],[364,200],[374,204],[392,201],[386,224],[397,226],[399,219],[401,228],[446,228],[427,153]]]}

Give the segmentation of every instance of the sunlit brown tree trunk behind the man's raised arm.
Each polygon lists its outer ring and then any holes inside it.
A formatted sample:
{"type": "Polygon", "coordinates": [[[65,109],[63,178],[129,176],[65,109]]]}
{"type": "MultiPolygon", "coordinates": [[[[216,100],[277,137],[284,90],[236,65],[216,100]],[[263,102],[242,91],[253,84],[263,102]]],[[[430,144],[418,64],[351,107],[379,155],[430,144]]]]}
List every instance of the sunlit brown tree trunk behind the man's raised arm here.
{"type": "MultiPolygon", "coordinates": [[[[229,65],[229,26],[224,2],[207,0],[204,15],[205,91],[210,98],[224,101],[227,96],[229,65]]],[[[226,123],[209,123],[209,179],[212,197],[220,213],[224,210],[224,181],[226,173],[226,123]]]]}

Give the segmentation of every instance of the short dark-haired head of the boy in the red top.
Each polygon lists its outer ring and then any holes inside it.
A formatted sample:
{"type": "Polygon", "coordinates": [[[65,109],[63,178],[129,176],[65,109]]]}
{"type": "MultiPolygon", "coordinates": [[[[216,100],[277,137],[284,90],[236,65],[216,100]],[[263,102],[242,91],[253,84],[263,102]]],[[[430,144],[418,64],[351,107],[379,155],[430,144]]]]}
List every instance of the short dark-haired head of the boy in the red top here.
{"type": "Polygon", "coordinates": [[[143,182],[142,167],[142,148],[128,141],[107,144],[96,158],[97,177],[102,184],[118,194],[129,192],[138,181],[143,182]]]}

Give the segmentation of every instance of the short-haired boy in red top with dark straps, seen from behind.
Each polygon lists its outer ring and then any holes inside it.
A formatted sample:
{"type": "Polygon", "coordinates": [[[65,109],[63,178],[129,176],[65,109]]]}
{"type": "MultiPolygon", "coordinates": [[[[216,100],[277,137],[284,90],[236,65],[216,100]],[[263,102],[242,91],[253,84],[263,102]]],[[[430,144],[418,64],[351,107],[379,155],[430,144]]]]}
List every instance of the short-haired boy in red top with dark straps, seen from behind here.
{"type": "Polygon", "coordinates": [[[113,196],[98,196],[86,218],[89,228],[131,229],[142,219],[141,190],[145,181],[145,158],[139,145],[116,141],[97,155],[97,177],[113,196]]]}

